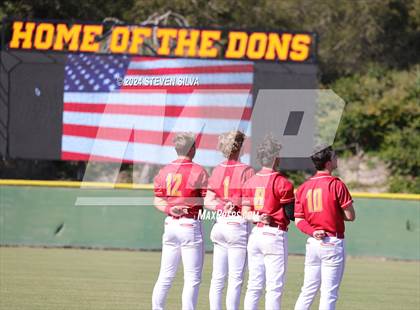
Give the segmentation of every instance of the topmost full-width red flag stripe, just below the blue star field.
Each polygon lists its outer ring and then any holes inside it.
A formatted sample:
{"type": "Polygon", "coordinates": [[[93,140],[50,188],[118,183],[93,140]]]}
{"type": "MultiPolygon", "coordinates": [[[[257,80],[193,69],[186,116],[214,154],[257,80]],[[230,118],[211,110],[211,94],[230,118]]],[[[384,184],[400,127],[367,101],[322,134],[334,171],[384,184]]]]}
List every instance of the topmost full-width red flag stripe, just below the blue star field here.
{"type": "Polygon", "coordinates": [[[65,102],[64,111],[105,114],[134,114],[166,117],[223,118],[250,120],[252,109],[217,106],[149,106],[126,104],[87,104],[65,102]]]}

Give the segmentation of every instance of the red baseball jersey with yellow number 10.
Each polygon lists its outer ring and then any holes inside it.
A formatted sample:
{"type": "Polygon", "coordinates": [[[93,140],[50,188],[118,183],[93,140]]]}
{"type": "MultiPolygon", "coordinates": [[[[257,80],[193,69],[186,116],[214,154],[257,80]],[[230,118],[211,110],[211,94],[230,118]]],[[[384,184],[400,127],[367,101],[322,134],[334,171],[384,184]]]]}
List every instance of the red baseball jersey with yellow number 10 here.
{"type": "Polygon", "coordinates": [[[295,217],[304,218],[315,228],[344,233],[344,212],[353,203],[350,192],[339,178],[318,172],[299,186],[295,217]]]}

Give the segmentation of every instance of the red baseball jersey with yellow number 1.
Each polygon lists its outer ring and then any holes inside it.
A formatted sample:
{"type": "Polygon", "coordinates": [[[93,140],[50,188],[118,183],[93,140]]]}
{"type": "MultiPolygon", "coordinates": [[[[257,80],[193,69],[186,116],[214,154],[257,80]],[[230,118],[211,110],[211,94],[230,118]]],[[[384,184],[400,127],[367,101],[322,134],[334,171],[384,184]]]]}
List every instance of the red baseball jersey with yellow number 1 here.
{"type": "Polygon", "coordinates": [[[213,169],[208,188],[222,202],[231,201],[241,211],[243,185],[254,174],[254,169],[247,164],[227,160],[213,169]]]}

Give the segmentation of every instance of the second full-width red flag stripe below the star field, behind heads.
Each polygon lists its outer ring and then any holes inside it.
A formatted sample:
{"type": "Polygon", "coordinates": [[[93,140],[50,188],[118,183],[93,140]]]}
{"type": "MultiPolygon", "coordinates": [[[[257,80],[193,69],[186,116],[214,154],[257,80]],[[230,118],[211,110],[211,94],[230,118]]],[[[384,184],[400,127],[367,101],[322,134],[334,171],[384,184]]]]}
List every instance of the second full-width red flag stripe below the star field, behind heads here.
{"type": "MultiPolygon", "coordinates": [[[[135,130],[124,128],[109,128],[97,126],[83,126],[83,125],[63,125],[63,135],[77,136],[93,139],[116,140],[126,142],[136,142],[145,144],[157,144],[173,146],[172,140],[176,132],[159,132],[152,130],[135,130]]],[[[200,149],[217,149],[218,135],[201,134],[197,138],[198,148],[200,149]]],[[[249,153],[249,140],[245,140],[244,152],[249,153]]]]}

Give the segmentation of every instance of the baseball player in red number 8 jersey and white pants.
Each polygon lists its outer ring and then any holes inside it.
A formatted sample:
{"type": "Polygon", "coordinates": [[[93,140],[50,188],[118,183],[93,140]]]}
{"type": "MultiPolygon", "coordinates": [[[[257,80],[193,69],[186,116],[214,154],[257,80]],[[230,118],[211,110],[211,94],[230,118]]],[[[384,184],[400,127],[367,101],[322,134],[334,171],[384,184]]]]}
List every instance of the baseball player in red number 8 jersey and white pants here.
{"type": "Polygon", "coordinates": [[[281,145],[267,137],[257,150],[262,169],[243,190],[243,205],[251,207],[253,228],[248,242],[249,279],[245,310],[258,308],[266,288],[265,309],[280,309],[287,267],[287,227],[293,215],[293,185],[277,171],[281,145]]]}

